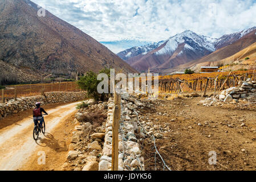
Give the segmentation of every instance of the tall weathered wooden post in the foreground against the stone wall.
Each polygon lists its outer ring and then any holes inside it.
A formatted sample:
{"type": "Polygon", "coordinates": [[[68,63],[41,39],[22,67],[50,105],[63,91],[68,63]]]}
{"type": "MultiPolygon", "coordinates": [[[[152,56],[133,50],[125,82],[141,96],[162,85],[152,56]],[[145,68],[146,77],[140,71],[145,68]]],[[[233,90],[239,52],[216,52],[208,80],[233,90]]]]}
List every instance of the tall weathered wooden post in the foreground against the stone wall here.
{"type": "Polygon", "coordinates": [[[115,107],[113,110],[112,123],[112,171],[118,171],[118,155],[119,155],[119,119],[120,119],[120,95],[114,94],[115,107]]]}

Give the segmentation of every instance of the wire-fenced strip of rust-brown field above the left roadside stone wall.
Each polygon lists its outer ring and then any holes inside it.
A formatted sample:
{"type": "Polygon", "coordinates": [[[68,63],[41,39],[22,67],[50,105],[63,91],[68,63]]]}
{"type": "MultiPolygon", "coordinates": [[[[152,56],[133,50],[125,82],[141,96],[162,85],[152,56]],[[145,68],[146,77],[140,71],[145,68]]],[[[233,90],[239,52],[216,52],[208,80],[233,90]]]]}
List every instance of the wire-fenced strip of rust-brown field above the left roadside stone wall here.
{"type": "Polygon", "coordinates": [[[1,90],[0,102],[17,97],[38,96],[44,92],[80,92],[76,82],[55,82],[51,84],[11,85],[1,90]]]}

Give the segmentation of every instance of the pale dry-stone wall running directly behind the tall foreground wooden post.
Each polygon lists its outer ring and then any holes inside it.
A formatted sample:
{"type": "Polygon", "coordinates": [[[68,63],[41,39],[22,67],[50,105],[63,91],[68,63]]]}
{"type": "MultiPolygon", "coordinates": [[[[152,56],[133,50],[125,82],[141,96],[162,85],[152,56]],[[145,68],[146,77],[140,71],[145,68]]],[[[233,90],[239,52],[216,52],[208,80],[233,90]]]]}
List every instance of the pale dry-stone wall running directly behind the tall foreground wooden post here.
{"type": "MultiPolygon", "coordinates": [[[[108,101],[108,118],[105,126],[103,156],[100,158],[99,171],[111,170],[112,161],[112,123],[113,99],[108,101]]],[[[121,119],[119,130],[119,171],[144,171],[144,158],[141,156],[139,141],[145,139],[145,131],[139,125],[137,109],[145,106],[131,96],[122,95],[121,119]]]]}

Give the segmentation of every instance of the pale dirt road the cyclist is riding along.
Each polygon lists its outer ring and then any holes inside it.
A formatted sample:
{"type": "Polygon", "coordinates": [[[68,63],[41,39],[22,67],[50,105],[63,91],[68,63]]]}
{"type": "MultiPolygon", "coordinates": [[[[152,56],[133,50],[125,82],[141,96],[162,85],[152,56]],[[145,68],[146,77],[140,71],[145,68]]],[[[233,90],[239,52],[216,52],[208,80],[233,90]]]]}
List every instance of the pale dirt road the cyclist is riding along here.
{"type": "MultiPolygon", "coordinates": [[[[79,102],[58,106],[47,110],[45,118],[46,135],[40,133],[38,141],[32,137],[34,123],[32,116],[21,119],[0,129],[0,170],[19,170],[29,163],[31,158],[39,158],[40,150],[44,151],[46,146],[44,140],[48,140],[51,132],[58,127],[60,122],[65,121],[76,109],[79,102]]],[[[33,169],[31,167],[31,169],[33,169]]]]}

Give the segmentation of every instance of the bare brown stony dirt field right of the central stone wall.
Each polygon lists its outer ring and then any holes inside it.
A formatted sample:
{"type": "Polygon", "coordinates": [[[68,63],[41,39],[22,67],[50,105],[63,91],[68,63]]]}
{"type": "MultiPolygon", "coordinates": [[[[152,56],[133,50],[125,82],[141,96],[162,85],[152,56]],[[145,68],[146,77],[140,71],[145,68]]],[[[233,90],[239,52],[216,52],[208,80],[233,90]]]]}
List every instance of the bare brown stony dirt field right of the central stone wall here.
{"type": "MultiPolygon", "coordinates": [[[[198,105],[200,100],[203,99],[160,100],[156,110],[142,112],[154,125],[170,129],[162,133],[163,138],[156,139],[166,164],[177,171],[255,170],[256,106],[206,107],[198,105]],[[210,151],[217,153],[216,165],[208,162],[210,151]]],[[[146,170],[163,169],[159,156],[155,163],[153,144],[144,144],[143,156],[146,170]]]]}

